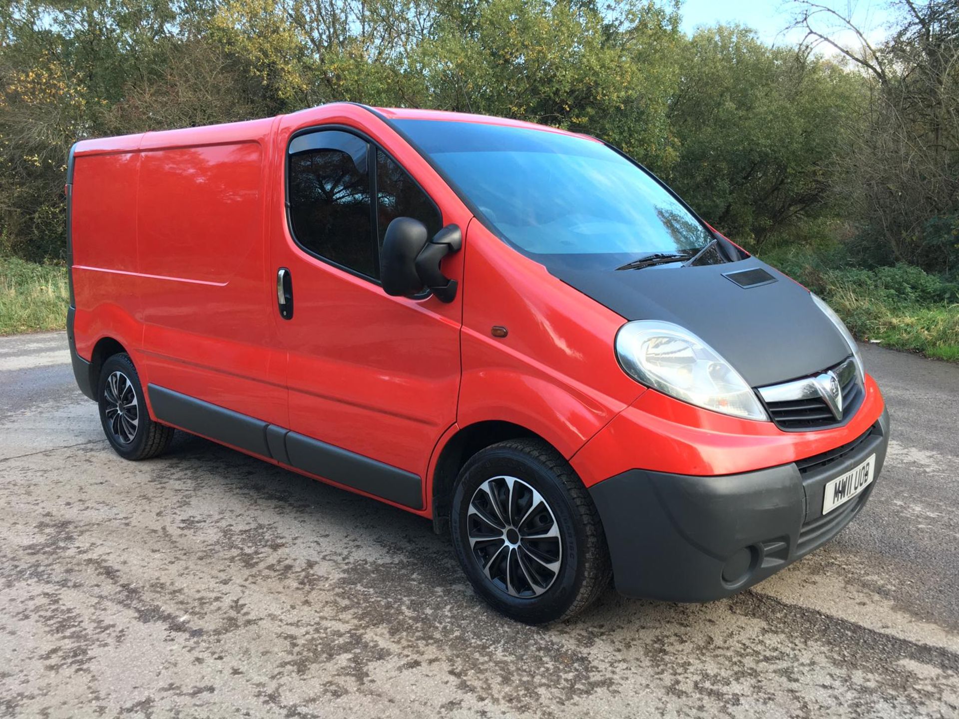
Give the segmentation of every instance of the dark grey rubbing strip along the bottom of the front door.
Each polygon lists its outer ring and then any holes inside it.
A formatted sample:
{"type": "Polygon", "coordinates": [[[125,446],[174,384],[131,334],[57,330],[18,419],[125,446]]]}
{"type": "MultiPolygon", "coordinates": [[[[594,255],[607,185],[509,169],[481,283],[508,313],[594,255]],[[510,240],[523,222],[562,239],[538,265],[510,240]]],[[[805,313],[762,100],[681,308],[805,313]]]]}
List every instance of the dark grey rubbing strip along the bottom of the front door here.
{"type": "Polygon", "coordinates": [[[423,508],[422,482],[411,472],[296,432],[287,435],[287,452],[296,469],[413,509],[423,508]]]}

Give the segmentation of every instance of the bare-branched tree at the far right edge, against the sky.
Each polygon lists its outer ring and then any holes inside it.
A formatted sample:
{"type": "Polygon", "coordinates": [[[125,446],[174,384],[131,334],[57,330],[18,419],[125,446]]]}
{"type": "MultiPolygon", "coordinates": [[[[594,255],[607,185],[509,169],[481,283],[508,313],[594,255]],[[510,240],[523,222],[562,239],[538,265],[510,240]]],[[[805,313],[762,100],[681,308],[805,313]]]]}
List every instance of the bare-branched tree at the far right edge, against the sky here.
{"type": "Polygon", "coordinates": [[[959,5],[897,0],[898,27],[879,45],[846,16],[801,0],[809,46],[837,48],[870,83],[863,130],[849,136],[837,187],[865,223],[876,261],[930,271],[959,265],[959,5]],[[831,26],[820,23],[830,20],[831,26]],[[846,47],[838,25],[859,38],[846,47]]]}

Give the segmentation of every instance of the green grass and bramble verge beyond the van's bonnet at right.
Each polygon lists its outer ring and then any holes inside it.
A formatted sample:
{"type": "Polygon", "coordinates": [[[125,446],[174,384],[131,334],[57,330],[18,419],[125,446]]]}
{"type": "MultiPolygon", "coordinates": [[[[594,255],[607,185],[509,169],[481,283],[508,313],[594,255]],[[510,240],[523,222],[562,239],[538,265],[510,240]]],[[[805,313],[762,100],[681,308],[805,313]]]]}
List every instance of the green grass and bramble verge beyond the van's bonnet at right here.
{"type": "Polygon", "coordinates": [[[908,265],[843,267],[839,251],[790,248],[762,260],[829,302],[859,339],[959,361],[959,285],[908,265]]]}

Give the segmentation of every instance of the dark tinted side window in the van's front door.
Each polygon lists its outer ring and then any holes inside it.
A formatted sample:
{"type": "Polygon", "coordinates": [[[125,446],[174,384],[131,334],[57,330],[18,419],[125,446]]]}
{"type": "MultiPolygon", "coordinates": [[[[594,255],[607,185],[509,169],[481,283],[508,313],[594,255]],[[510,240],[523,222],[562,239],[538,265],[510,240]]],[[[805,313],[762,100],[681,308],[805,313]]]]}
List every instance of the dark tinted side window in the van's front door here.
{"type": "Polygon", "coordinates": [[[380,247],[391,220],[420,220],[431,237],[442,226],[433,200],[412,177],[357,135],[342,130],[299,135],[289,155],[293,239],[322,260],[378,280],[380,247]]]}

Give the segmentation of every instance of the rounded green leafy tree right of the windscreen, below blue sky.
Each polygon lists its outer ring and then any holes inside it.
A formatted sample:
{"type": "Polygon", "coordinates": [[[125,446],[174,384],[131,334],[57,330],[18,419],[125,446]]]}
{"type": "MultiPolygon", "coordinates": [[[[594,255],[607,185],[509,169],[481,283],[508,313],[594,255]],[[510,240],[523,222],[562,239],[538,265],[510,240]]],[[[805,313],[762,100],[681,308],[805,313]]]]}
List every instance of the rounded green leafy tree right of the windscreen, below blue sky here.
{"type": "Polygon", "coordinates": [[[667,177],[676,189],[755,249],[823,210],[861,83],[740,27],[700,30],[680,66],[669,107],[679,160],[667,177]]]}

